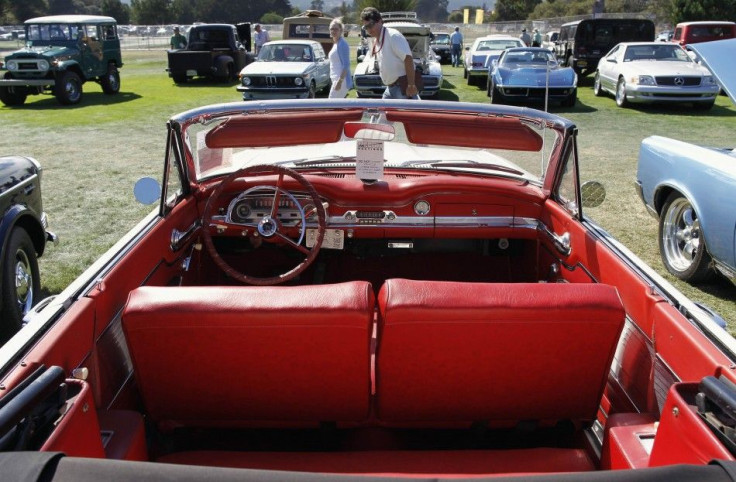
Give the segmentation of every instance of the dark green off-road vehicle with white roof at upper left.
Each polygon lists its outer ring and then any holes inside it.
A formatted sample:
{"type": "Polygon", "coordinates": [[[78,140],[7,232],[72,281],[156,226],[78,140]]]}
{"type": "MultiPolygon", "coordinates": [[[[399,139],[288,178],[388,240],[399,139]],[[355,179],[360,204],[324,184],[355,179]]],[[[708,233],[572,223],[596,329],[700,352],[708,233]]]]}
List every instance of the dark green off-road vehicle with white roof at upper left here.
{"type": "Polygon", "coordinates": [[[82,85],[95,81],[105,94],[120,91],[123,66],[112,17],[53,15],[25,21],[26,45],[5,57],[0,101],[25,103],[29,95],[53,94],[60,103],[82,100],[82,85]]]}

